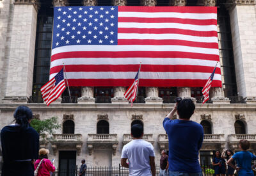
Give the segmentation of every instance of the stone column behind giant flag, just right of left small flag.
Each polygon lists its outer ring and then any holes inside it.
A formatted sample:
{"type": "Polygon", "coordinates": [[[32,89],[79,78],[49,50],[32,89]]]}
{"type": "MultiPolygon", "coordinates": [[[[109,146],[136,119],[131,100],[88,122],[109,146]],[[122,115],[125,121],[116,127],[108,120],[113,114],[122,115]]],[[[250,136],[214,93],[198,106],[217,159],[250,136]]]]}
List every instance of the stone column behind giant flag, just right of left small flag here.
{"type": "MultiPolygon", "coordinates": [[[[83,0],[84,6],[96,6],[97,0],[83,0]]],[[[81,88],[81,97],[77,99],[78,104],[92,104],[95,103],[94,98],[94,87],[82,87],[81,88]]]]}

